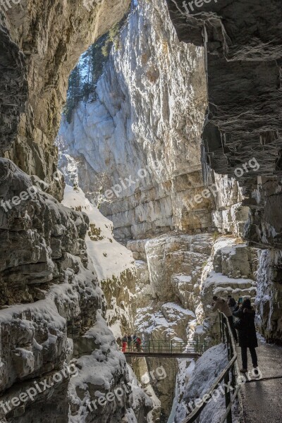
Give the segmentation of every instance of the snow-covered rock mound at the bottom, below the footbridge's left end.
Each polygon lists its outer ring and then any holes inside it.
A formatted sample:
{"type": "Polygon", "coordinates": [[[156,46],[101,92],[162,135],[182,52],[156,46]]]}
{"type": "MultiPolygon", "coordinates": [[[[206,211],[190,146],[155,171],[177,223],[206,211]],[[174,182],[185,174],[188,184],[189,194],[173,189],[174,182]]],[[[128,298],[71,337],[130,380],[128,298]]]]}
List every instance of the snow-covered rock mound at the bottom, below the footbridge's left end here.
{"type": "Polygon", "coordinates": [[[70,423],[142,422],[152,410],[152,400],[142,391],[123,353],[118,351],[113,333],[97,314],[97,322],[85,333],[91,345],[88,355],[75,365],[78,375],[70,381],[70,423]]]}

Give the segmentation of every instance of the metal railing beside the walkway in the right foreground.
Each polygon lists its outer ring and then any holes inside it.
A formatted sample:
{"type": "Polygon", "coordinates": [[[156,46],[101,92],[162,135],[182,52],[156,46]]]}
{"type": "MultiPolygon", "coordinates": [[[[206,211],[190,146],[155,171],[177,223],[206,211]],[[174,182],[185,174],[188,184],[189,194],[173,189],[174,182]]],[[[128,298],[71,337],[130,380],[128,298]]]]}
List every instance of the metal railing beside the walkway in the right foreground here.
{"type": "MultiPolygon", "coordinates": [[[[206,393],[205,398],[212,398],[212,393],[219,388],[221,382],[224,381],[224,392],[225,392],[225,403],[226,411],[221,417],[219,423],[232,423],[232,406],[236,400],[238,400],[239,415],[236,416],[238,422],[243,423],[243,401],[240,392],[240,383],[238,381],[238,376],[240,376],[240,370],[238,366],[238,355],[235,350],[235,343],[229,321],[225,314],[219,313],[220,317],[220,329],[221,329],[221,341],[227,345],[227,355],[228,355],[228,365],[226,368],[219,374],[219,376],[212,384],[212,387],[206,393]],[[231,388],[228,388],[231,386],[231,388]],[[232,391],[232,396],[231,396],[232,391]]],[[[183,423],[192,423],[195,422],[197,417],[200,416],[202,410],[207,405],[207,402],[202,402],[202,405],[196,407],[188,417],[183,420],[183,423]]]]}

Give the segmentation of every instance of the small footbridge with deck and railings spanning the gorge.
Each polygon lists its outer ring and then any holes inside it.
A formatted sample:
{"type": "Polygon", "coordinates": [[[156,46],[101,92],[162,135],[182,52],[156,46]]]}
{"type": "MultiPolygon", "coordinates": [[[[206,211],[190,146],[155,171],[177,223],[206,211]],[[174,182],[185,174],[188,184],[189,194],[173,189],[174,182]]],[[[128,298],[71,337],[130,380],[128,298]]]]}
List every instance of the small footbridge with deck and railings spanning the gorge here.
{"type": "Polygon", "coordinates": [[[137,347],[127,345],[126,357],[198,358],[208,348],[207,341],[144,341],[137,347]]]}

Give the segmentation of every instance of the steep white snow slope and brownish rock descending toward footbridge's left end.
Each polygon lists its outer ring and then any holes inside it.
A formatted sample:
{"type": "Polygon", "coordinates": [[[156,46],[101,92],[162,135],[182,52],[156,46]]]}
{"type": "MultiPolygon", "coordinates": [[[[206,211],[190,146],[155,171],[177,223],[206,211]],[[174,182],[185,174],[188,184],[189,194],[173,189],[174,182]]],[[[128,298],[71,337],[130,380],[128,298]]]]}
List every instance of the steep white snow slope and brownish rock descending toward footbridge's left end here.
{"type": "Polygon", "coordinates": [[[63,204],[87,214],[87,254],[102,283],[108,302],[106,320],[117,338],[133,327],[135,264],[132,252],[116,242],[113,223],[85,197],[80,188],[66,185],[63,204]]]}

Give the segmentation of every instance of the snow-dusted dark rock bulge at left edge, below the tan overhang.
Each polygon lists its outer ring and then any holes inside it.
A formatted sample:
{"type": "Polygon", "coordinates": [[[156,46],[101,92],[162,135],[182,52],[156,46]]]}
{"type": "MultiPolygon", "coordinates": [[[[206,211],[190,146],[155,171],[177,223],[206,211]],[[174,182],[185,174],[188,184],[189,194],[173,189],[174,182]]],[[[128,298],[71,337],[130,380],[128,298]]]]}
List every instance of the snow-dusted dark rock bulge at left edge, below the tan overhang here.
{"type": "Polygon", "coordinates": [[[1,301],[12,305],[0,310],[4,363],[0,391],[16,380],[36,377],[62,365],[72,348],[68,338],[79,338],[94,323],[96,310],[105,309],[102,290],[85,255],[86,215],[42,192],[30,203],[16,207],[5,224],[13,226],[13,248],[19,244],[18,262],[13,266],[24,266],[24,271],[22,267],[18,285],[18,270],[6,262],[11,290],[6,288],[1,301]],[[27,248],[29,239],[33,242],[27,248]],[[13,291],[14,286],[19,287],[18,292],[13,291]],[[20,299],[22,292],[25,295],[20,299]],[[13,305],[20,301],[23,304],[13,305]]]}

